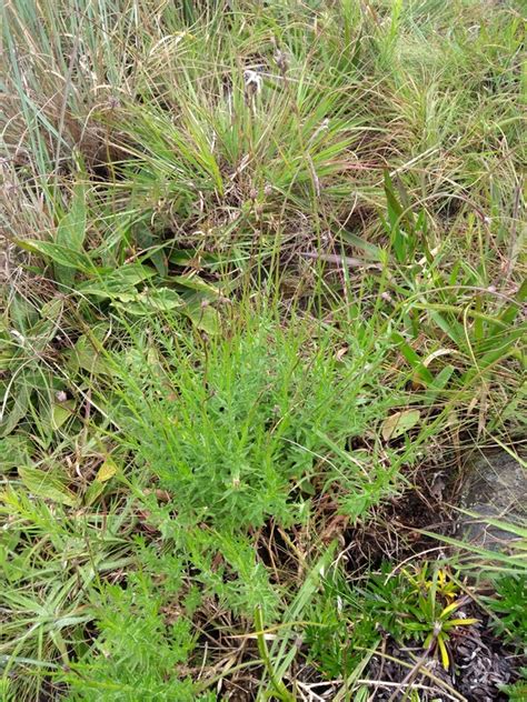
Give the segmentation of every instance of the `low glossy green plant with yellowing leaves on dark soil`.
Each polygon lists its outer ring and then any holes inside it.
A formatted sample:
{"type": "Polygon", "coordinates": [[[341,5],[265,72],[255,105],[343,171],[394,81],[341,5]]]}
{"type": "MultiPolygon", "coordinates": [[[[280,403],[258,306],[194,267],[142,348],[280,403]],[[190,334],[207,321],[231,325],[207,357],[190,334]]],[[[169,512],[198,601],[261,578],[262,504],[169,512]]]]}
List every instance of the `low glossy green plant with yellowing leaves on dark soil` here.
{"type": "Polygon", "coordinates": [[[419,643],[426,653],[437,653],[448,670],[450,635],[459,626],[478,623],[475,618],[456,615],[467,604],[457,581],[447,569],[426,561],[396,574],[385,563],[365,585],[352,588],[337,575],[327,582],[325,595],[322,602],[327,604],[314,619],[326,629],[314,628],[309,634],[311,651],[329,675],[342,666],[352,670],[360,650],[375,649],[382,634],[400,644],[408,640],[419,643]]]}

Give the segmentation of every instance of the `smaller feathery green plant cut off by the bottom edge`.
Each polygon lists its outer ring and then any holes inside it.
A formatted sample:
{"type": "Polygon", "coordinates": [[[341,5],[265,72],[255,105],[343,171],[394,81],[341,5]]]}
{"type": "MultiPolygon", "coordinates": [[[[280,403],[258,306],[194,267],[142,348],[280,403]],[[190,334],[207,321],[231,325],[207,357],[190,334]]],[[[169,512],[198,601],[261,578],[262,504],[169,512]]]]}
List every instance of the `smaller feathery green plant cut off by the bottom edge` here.
{"type": "Polygon", "coordinates": [[[69,682],[71,700],[195,700],[192,682],[179,673],[195,638],[196,598],[180,596],[183,569],[177,556],[136,541],[139,569],[126,583],[92,592],[97,638],[59,680],[69,682]],[[156,580],[162,582],[162,593],[156,580]],[[157,593],[157,594],[155,594],[157,593]]]}

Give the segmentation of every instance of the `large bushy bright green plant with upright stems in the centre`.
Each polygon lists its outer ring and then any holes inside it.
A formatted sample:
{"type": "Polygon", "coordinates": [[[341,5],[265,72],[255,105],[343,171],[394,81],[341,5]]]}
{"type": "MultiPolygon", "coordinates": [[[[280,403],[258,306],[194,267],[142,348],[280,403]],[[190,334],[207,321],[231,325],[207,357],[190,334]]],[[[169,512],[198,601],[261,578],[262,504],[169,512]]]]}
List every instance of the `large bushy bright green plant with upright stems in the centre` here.
{"type": "Polygon", "coordinates": [[[133,347],[115,359],[111,418],[139,481],[159,479],[183,523],[304,522],[316,489],[359,517],[391,489],[395,473],[372,462],[366,471],[346,449],[390,404],[371,393],[380,354],[371,349],[365,377],[358,338],[342,334],[354,352],[339,361],[339,335],[300,320],[285,329],[265,309],[205,342],[170,317],[131,334],[133,347]]]}

